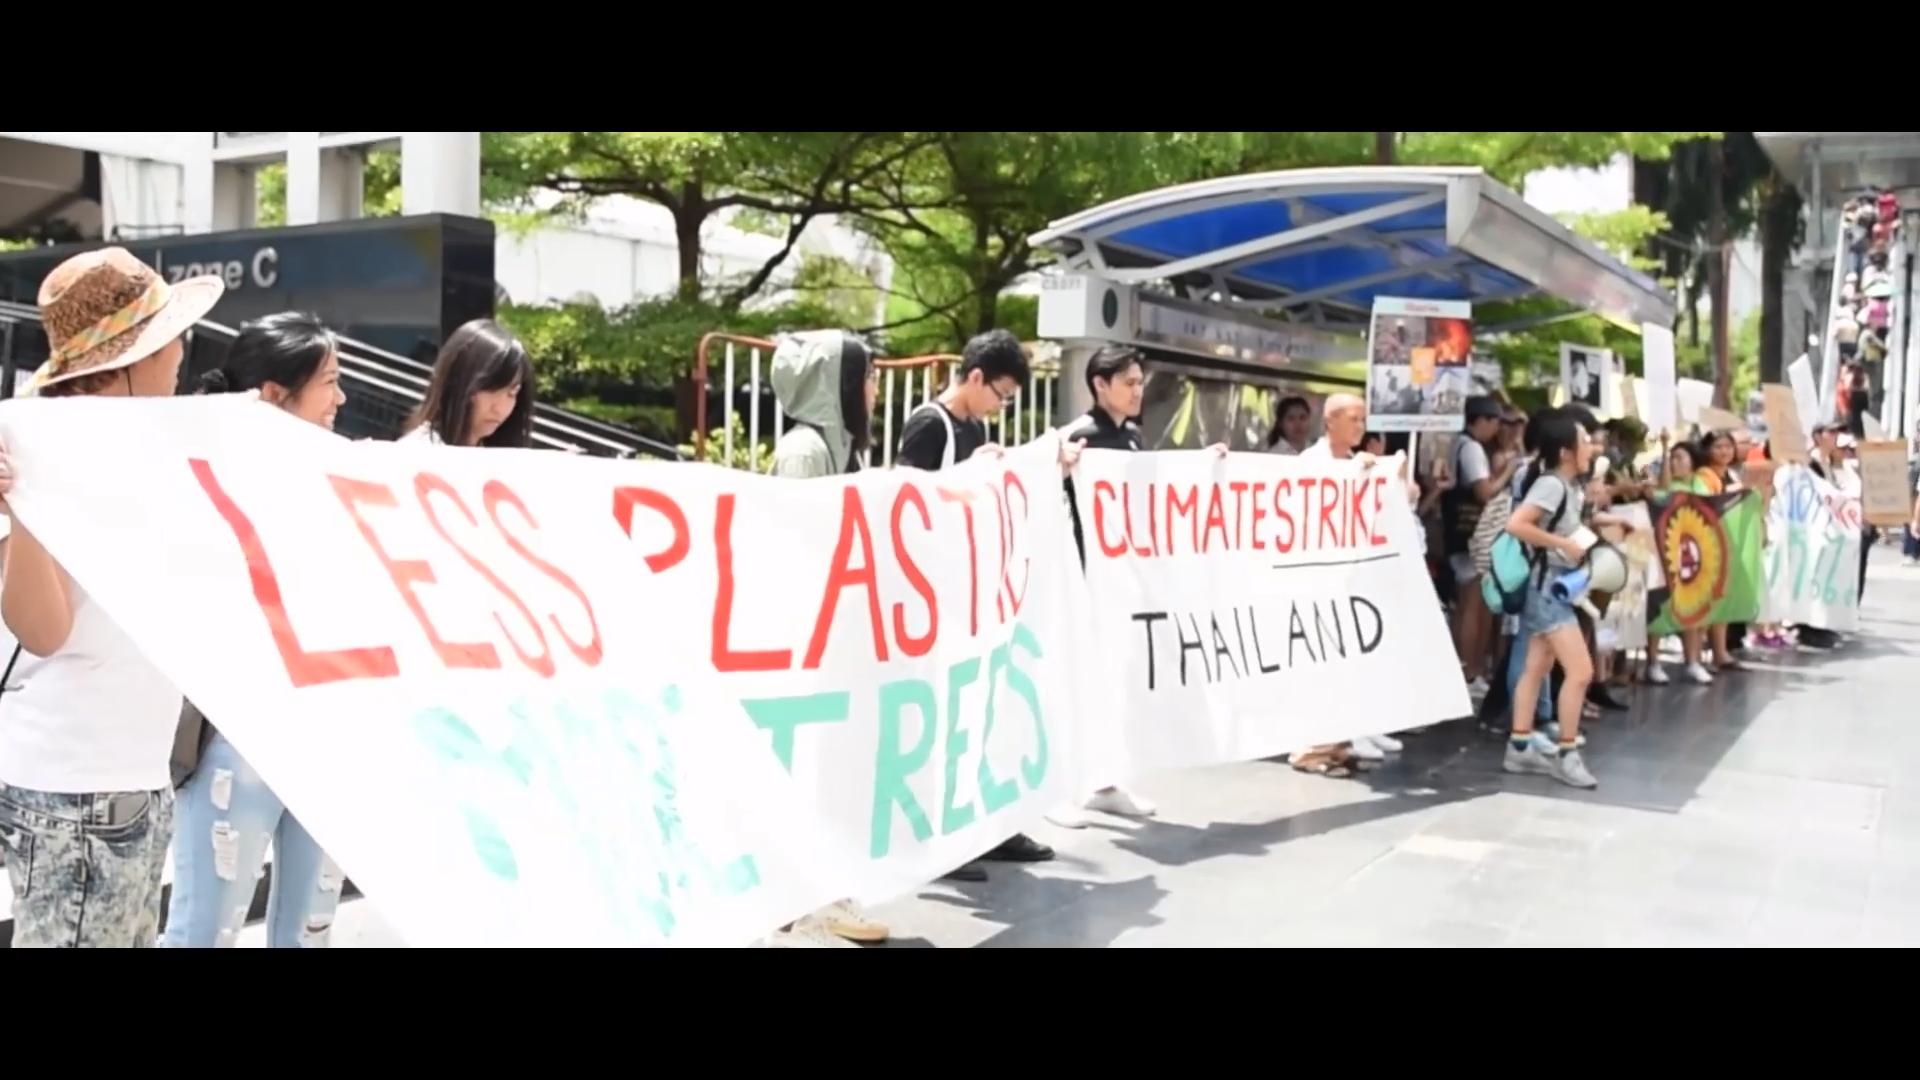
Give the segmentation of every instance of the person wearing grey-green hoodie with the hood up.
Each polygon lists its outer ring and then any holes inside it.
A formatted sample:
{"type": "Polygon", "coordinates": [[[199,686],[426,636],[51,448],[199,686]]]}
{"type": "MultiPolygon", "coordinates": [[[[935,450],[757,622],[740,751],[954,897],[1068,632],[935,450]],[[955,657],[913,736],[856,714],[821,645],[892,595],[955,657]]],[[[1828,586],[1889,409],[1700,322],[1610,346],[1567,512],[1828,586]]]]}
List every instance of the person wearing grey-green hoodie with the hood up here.
{"type": "MultiPolygon", "coordinates": [[[[872,444],[879,369],[874,350],[845,331],[808,331],[780,338],[774,350],[774,398],[793,427],[774,446],[774,475],[795,480],[856,473],[872,444]]],[[[885,942],[887,926],[851,899],[833,901],[781,928],[781,945],[885,942]]]]}

